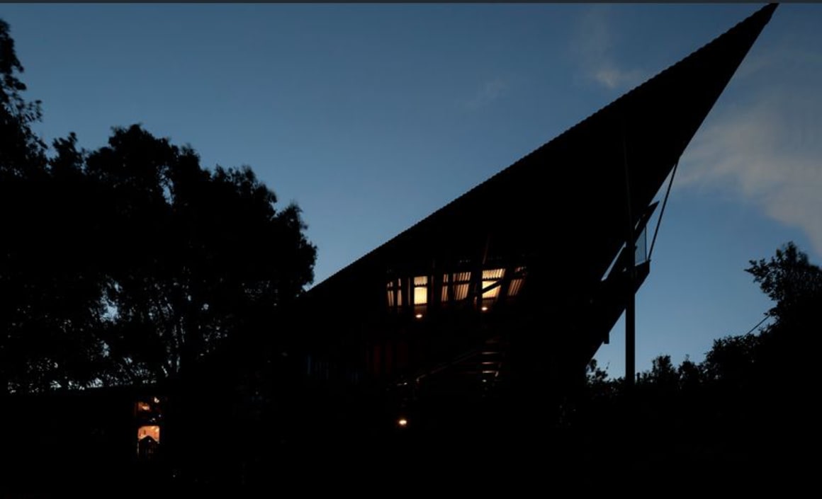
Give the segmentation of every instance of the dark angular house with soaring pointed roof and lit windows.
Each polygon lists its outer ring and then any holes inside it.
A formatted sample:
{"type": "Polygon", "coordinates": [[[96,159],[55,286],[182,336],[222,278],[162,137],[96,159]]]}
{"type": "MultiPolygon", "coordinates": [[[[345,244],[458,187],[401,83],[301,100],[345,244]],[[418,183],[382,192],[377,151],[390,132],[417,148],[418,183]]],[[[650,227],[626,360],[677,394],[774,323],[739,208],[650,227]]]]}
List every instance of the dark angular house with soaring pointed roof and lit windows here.
{"type": "Polygon", "coordinates": [[[306,373],[453,406],[570,387],[648,275],[655,196],[775,8],[315,286],[306,373]]]}

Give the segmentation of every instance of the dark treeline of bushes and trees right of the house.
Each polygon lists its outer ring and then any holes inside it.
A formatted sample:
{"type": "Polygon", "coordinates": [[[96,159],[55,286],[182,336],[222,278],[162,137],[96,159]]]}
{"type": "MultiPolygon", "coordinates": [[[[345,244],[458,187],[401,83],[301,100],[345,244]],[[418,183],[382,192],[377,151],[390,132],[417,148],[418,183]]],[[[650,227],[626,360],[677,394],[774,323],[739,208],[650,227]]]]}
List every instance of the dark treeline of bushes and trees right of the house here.
{"type": "MultiPolygon", "coordinates": [[[[807,453],[819,442],[822,270],[788,243],[746,272],[774,300],[769,325],[713,341],[698,364],[660,355],[632,390],[592,361],[565,414],[575,448],[607,449],[614,459],[603,469],[612,470],[739,473],[747,481],[810,468],[807,453]]],[[[602,457],[592,456],[581,458],[602,457]]]]}

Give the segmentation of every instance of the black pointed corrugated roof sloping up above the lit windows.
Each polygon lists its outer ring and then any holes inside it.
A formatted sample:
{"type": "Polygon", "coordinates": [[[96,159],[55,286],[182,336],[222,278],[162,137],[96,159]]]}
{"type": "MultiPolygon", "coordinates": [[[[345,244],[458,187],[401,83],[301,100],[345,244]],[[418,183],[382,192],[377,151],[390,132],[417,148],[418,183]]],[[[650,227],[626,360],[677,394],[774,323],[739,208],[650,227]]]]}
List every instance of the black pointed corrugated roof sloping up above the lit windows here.
{"type": "Polygon", "coordinates": [[[554,263],[560,289],[598,282],[625,243],[628,194],[636,224],[775,8],[763,7],[308,296],[339,303],[363,283],[383,281],[389,270],[418,272],[478,253],[554,263]]]}

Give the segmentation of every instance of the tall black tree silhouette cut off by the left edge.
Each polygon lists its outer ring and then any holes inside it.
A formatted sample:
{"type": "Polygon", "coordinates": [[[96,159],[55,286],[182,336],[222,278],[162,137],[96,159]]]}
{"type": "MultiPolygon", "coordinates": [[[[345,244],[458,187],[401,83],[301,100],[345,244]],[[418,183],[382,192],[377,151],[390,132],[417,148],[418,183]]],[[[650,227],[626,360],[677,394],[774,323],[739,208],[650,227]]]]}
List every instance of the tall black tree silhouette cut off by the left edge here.
{"type": "Polygon", "coordinates": [[[22,71],[0,20],[0,393],[87,384],[99,353],[84,334],[99,289],[72,258],[72,186],[48,171],[45,144],[31,130],[39,101],[25,100],[22,71]]]}

